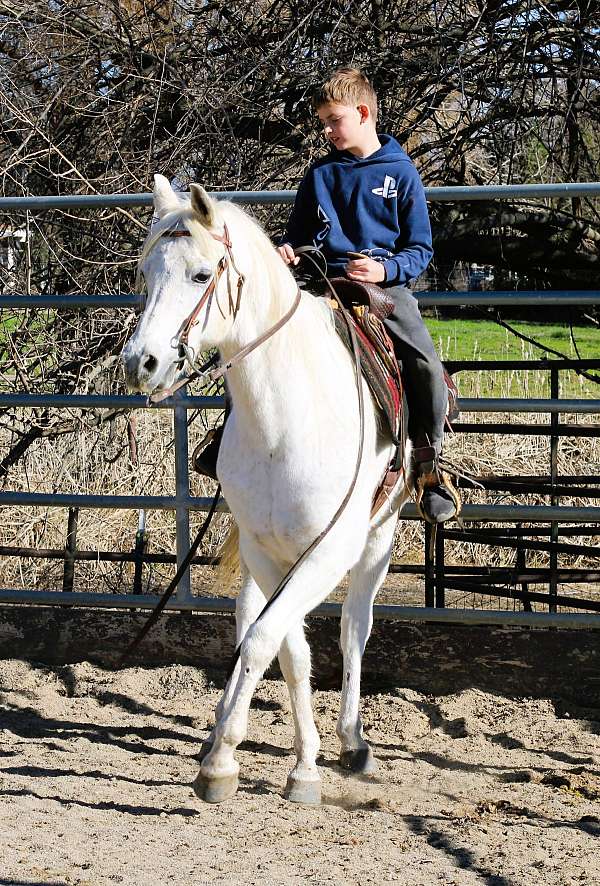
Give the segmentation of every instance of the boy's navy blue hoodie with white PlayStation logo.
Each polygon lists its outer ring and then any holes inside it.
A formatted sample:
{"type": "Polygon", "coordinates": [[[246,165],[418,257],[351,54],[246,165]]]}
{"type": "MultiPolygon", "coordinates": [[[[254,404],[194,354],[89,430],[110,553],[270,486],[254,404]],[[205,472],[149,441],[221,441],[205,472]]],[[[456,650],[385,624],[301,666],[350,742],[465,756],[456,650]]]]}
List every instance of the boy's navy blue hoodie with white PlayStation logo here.
{"type": "Polygon", "coordinates": [[[433,255],[423,184],[391,135],[370,157],[332,148],[298,187],[283,243],[312,244],[327,259],[328,274],[344,274],[348,252],[363,252],[385,267],[381,286],[404,285],[433,255]]]}

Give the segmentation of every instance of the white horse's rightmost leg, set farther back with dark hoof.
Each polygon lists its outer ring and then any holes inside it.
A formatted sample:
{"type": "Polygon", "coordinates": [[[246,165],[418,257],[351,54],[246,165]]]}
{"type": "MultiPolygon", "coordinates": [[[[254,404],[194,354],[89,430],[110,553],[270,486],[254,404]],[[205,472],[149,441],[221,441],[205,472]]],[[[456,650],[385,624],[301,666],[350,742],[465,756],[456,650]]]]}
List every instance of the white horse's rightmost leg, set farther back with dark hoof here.
{"type": "Polygon", "coordinates": [[[362,733],[361,665],[373,624],[373,601],[387,574],[396,520],[397,515],[391,514],[385,523],[371,531],[363,556],[350,572],[348,594],[342,607],[340,646],[344,678],[336,729],[341,742],[340,764],[365,775],[375,771],[376,763],[362,733]]]}

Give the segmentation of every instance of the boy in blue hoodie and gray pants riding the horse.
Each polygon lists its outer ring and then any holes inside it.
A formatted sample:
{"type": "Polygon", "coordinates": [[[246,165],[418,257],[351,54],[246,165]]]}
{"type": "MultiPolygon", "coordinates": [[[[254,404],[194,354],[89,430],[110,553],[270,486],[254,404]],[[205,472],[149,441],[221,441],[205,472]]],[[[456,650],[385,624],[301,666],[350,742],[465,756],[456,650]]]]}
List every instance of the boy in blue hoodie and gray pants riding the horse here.
{"type": "MultiPolygon", "coordinates": [[[[300,182],[278,247],[288,265],[296,249],[313,245],[329,277],[375,283],[394,303],[384,321],[402,365],[412,443],[411,473],[422,516],[443,523],[458,497],[438,467],[448,392],[442,364],[409,284],[433,255],[425,192],[413,162],[390,135],[378,133],[377,96],[364,74],[340,68],[316,91],[315,111],[331,143],[300,182]]],[[[312,280],[311,290],[321,290],[312,280]]],[[[214,476],[220,435],[196,459],[214,476]]]]}

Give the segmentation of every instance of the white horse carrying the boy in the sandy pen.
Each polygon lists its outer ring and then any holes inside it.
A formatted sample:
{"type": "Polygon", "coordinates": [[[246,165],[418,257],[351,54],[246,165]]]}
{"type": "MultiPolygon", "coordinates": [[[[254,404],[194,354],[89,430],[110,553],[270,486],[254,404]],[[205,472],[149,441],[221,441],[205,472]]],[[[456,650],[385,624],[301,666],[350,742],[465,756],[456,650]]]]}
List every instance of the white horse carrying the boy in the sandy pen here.
{"type": "Polygon", "coordinates": [[[340,762],[356,772],[372,772],[375,764],[359,714],[361,660],[371,631],[373,600],[388,569],[398,508],[407,491],[399,483],[389,504],[371,518],[372,496],[393,444],[381,430],[363,382],[364,449],[350,500],[283,593],[256,620],[282,577],[327,526],[350,486],[359,447],[353,361],[334,330],[327,302],[299,292],[267,236],[240,208],[215,202],[199,185],[191,185],[191,199],[176,194],[158,175],[154,206],[158,221],[140,260],[147,305],[123,351],[131,388],[148,393],[168,388],[180,365],[180,341],[188,336],[195,354],[218,348],[225,362],[233,359],[235,364],[235,355],[268,333],[299,296],[285,325],[227,373],[232,411],[217,473],[239,527],[239,555],[245,566],[236,607],[241,649],[194,787],[209,802],[235,794],[239,765],[234,752],[247,733],[256,685],[278,655],[295,725],[296,765],[286,796],[318,803],[319,735],[311,706],[304,618],[349,572],[340,638],[340,762]]]}

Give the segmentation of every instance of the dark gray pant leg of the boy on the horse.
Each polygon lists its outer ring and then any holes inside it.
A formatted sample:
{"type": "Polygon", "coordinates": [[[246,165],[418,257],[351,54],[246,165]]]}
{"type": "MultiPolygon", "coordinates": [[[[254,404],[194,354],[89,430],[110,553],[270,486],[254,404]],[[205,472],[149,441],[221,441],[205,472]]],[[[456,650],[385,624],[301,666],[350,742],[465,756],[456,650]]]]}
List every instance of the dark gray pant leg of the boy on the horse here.
{"type": "Polygon", "coordinates": [[[419,303],[405,286],[390,286],[385,294],[394,301],[394,311],[385,327],[402,364],[408,405],[408,436],[413,446],[433,446],[439,454],[444,437],[448,389],[444,370],[419,303]]]}

